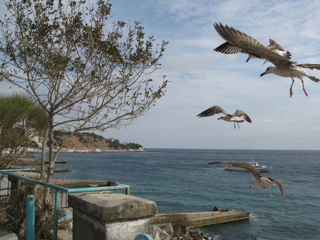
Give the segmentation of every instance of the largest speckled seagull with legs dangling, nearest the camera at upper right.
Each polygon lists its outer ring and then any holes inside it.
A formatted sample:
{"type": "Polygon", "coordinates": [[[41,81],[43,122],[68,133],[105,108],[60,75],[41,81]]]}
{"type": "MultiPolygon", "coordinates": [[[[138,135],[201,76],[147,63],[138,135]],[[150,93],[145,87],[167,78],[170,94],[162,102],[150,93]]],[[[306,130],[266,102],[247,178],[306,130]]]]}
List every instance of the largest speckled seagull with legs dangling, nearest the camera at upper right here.
{"type": "Polygon", "coordinates": [[[304,68],[316,68],[320,70],[320,64],[296,64],[297,62],[286,59],[285,57],[272,51],[268,47],[263,46],[251,36],[248,36],[245,33],[242,33],[234,28],[230,28],[227,25],[223,26],[221,23],[220,25],[218,25],[217,23],[214,24],[214,28],[222,38],[224,38],[230,44],[238,47],[240,49],[239,52],[250,54],[256,58],[266,59],[275,65],[268,67],[266,71],[260,76],[273,73],[282,77],[291,77],[292,84],[290,87],[290,97],[293,95],[292,85],[294,83],[294,77],[297,77],[301,80],[302,88],[306,96],[308,96],[308,93],[304,88],[302,76],[307,76],[316,83],[319,82],[318,78],[308,74],[308,72],[304,68]]]}

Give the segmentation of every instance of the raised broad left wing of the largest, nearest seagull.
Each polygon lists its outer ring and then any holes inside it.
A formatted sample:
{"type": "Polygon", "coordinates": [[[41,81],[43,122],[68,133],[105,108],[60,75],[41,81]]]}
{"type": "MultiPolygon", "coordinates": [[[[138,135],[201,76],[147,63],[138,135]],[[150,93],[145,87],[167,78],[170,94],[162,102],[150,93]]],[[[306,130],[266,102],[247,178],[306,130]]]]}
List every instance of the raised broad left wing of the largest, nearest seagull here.
{"type": "Polygon", "coordinates": [[[272,51],[268,47],[260,44],[256,39],[246,35],[234,28],[223,26],[221,23],[214,25],[219,35],[229,43],[241,48],[243,52],[253,55],[260,59],[266,59],[277,67],[286,67],[296,62],[292,62],[282,55],[272,51]]]}

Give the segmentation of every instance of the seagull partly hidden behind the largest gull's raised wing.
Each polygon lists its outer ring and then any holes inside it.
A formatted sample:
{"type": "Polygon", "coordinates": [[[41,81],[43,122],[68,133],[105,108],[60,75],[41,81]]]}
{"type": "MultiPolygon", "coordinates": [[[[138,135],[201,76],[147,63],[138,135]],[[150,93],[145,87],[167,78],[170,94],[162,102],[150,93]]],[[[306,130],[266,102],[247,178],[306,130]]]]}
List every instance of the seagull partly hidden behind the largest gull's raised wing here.
{"type": "MultiPolygon", "coordinates": [[[[273,52],[276,52],[280,55],[282,55],[283,57],[285,57],[286,59],[291,59],[291,52],[288,51],[284,51],[283,47],[278,44],[275,40],[272,40],[271,38],[269,39],[269,45],[267,46],[267,48],[269,48],[270,50],[272,50],[273,52]]],[[[237,47],[229,42],[225,42],[223,44],[221,44],[219,47],[216,47],[215,49],[213,49],[213,51],[216,52],[221,52],[224,54],[235,54],[238,52],[242,52],[242,48],[237,47]]],[[[245,52],[243,52],[245,53],[245,52]]],[[[250,59],[252,58],[257,58],[254,55],[249,54],[248,59],[246,60],[246,62],[248,62],[250,59]]],[[[266,62],[268,62],[268,60],[265,60],[263,64],[265,64],[266,62]]]]}

